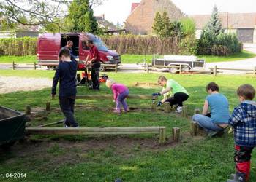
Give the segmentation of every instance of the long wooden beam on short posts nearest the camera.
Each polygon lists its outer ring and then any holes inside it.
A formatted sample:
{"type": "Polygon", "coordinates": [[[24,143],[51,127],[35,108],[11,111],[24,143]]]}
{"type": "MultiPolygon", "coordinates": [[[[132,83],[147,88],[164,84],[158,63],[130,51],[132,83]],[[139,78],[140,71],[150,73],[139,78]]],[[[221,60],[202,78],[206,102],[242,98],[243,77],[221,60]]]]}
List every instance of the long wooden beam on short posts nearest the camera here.
{"type": "Polygon", "coordinates": [[[29,135],[129,135],[159,134],[159,143],[165,143],[165,127],[26,127],[29,135]]]}

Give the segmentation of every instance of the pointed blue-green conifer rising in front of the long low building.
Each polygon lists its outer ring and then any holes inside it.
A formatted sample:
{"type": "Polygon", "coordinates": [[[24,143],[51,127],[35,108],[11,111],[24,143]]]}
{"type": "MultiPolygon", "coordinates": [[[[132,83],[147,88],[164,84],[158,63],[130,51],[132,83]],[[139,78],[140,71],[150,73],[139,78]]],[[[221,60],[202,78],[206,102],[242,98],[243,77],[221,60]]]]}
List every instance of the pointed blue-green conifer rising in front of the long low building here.
{"type": "Polygon", "coordinates": [[[206,24],[206,29],[210,31],[214,36],[219,35],[223,32],[222,21],[219,20],[219,12],[216,6],[214,6],[213,12],[211,13],[211,18],[206,24]]]}

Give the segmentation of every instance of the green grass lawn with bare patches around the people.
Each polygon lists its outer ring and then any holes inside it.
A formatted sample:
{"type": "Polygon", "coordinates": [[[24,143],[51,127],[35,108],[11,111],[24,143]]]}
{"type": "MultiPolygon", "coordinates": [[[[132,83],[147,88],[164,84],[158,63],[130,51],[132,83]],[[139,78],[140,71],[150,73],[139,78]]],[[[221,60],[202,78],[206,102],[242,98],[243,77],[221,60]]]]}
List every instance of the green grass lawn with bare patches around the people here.
{"type": "MultiPolygon", "coordinates": [[[[0,76],[48,77],[54,71],[1,71],[0,76]]],[[[126,84],[130,94],[151,94],[159,87],[135,87],[135,82],[156,82],[159,74],[107,73],[117,82],[126,84]],[[129,78],[129,79],[128,79],[129,78]]],[[[0,174],[26,173],[26,181],[226,181],[234,172],[233,137],[190,137],[189,122],[194,108],[202,108],[206,97],[205,85],[214,81],[230,102],[230,111],[238,104],[236,88],[250,83],[256,87],[251,76],[202,76],[165,74],[187,88],[189,116],[163,111],[152,113],[151,100],[127,100],[135,111],[117,116],[110,111],[112,100],[76,100],[75,118],[81,127],[100,126],[165,126],[169,138],[172,127],[181,128],[181,141],[157,144],[154,135],[126,136],[30,136],[25,143],[17,143],[10,151],[0,150],[0,174]],[[227,82],[228,80],[228,82],[227,82]]],[[[78,87],[78,94],[94,94],[86,87],[78,87]]],[[[111,94],[102,85],[96,94],[111,94]]],[[[50,100],[50,88],[33,92],[13,92],[0,95],[0,105],[24,111],[45,107],[50,100]]],[[[58,100],[50,100],[52,112],[35,116],[29,126],[58,121],[63,116],[58,100]]],[[[61,126],[61,125],[59,125],[61,126]]],[[[256,153],[252,154],[251,181],[256,181],[256,153]]],[[[2,179],[1,179],[2,180],[2,179]]],[[[11,178],[9,181],[20,181],[11,178]]]]}

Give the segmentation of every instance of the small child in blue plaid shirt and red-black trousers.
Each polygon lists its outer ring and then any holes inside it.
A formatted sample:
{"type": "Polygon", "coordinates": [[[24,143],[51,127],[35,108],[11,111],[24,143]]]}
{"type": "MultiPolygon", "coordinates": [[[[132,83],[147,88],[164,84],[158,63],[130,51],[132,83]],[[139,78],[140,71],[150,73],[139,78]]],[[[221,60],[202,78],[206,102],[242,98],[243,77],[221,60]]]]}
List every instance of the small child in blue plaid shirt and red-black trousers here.
{"type": "Polygon", "coordinates": [[[230,175],[232,181],[248,181],[252,150],[256,146],[256,103],[255,89],[250,84],[238,87],[237,95],[241,101],[234,108],[228,123],[233,127],[235,138],[236,174],[230,175]]]}

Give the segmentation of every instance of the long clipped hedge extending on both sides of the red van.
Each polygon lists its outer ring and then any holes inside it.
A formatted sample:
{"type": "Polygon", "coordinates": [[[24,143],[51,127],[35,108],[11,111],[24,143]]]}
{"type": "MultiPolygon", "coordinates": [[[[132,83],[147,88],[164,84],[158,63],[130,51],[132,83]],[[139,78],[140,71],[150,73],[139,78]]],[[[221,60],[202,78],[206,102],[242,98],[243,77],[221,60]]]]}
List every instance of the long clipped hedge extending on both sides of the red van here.
{"type": "MultiPolygon", "coordinates": [[[[182,47],[178,37],[158,39],[157,36],[102,36],[102,41],[119,54],[178,54],[182,47]]],[[[36,55],[37,38],[0,39],[0,55],[36,55]]]]}

